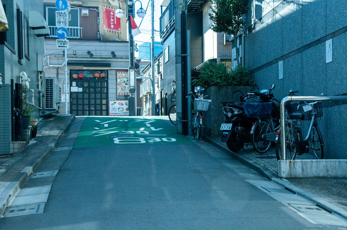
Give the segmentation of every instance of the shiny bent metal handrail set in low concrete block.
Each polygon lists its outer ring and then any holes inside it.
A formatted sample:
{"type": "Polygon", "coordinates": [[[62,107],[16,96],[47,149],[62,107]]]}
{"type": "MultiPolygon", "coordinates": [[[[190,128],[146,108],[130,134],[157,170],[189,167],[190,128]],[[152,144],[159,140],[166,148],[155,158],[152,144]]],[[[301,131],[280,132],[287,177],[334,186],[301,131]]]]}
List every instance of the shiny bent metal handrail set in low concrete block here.
{"type": "MultiPolygon", "coordinates": [[[[292,97],[285,97],[281,100],[280,103],[280,126],[281,126],[281,134],[284,133],[285,125],[286,125],[286,119],[285,119],[285,104],[287,101],[347,101],[347,96],[321,96],[321,97],[314,97],[314,96],[292,96],[292,97]]],[[[280,135],[281,143],[286,142],[286,136],[280,135]]],[[[286,145],[281,144],[281,155],[282,160],[286,160],[286,145]]]]}

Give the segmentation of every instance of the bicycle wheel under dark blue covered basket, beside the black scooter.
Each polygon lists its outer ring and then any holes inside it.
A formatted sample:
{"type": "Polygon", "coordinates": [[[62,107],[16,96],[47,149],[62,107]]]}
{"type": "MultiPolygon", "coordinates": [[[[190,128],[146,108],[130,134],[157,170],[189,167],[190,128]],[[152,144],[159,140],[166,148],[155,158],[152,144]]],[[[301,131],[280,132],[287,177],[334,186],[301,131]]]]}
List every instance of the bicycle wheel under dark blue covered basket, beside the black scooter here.
{"type": "Polygon", "coordinates": [[[266,135],[272,133],[273,129],[270,122],[261,120],[254,125],[252,133],[252,145],[255,151],[265,153],[269,150],[271,141],[266,140],[266,135]]]}

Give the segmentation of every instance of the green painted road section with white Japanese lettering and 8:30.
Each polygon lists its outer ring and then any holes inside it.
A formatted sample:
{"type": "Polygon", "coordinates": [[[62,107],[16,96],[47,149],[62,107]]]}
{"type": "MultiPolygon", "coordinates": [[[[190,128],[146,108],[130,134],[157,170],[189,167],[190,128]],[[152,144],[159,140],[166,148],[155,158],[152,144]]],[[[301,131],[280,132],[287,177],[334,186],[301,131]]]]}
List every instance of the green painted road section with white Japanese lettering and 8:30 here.
{"type": "Polygon", "coordinates": [[[164,117],[86,117],[74,148],[128,144],[193,144],[164,117]]]}

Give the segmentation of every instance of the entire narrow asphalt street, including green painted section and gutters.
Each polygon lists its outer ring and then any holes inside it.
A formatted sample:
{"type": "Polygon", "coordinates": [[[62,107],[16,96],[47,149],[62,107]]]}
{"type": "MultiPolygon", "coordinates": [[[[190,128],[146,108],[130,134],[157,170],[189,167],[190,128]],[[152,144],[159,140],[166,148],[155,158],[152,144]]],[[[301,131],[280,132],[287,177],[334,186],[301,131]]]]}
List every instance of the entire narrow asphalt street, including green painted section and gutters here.
{"type": "Polygon", "coordinates": [[[300,213],[313,205],[283,190],[166,118],[76,117],[4,215],[34,203],[41,213],[0,228],[345,229],[318,207],[300,213]]]}

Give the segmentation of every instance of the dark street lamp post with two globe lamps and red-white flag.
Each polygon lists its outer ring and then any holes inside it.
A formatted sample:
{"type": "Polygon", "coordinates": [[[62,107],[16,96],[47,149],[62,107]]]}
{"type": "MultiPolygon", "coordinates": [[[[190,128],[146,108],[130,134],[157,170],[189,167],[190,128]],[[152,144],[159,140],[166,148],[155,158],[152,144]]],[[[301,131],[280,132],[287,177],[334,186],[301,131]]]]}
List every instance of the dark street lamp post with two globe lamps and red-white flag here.
{"type": "MultiPolygon", "coordinates": [[[[124,11],[120,8],[120,2],[123,1],[127,5],[127,16],[128,16],[128,33],[129,33],[129,92],[131,100],[129,100],[129,115],[136,116],[137,106],[136,106],[136,68],[134,65],[134,37],[132,34],[131,27],[131,16],[135,18],[134,10],[135,10],[135,2],[140,2],[141,7],[137,10],[136,14],[138,17],[143,18],[146,15],[146,11],[142,8],[142,2],[139,0],[136,1],[128,1],[120,0],[118,2],[118,9],[115,11],[115,16],[117,18],[121,18],[124,16],[124,11]]],[[[130,99],[129,97],[129,99],[130,99]]]]}

